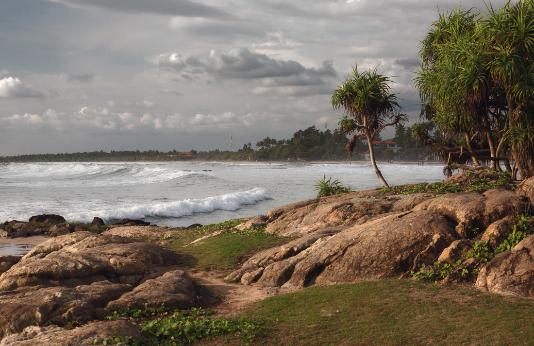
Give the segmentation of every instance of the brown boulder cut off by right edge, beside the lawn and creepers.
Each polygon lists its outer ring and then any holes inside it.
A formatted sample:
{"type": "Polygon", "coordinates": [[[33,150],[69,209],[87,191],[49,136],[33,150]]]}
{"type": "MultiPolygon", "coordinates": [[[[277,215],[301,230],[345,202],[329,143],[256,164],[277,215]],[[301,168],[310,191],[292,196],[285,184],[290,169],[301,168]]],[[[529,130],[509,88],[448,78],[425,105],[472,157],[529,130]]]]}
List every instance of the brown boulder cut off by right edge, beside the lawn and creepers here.
{"type": "Polygon", "coordinates": [[[534,296],[534,235],[482,266],[475,287],[504,295],[534,296]]]}

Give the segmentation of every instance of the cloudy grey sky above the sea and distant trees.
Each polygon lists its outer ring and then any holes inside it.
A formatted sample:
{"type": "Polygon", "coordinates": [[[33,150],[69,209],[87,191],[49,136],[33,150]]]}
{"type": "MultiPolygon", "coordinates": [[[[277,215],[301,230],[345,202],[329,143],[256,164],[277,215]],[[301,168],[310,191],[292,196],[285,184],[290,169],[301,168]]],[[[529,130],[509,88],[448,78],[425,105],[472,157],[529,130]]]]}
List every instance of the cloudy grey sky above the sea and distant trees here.
{"type": "MultiPolygon", "coordinates": [[[[502,5],[493,2],[494,5],[502,5]]],[[[483,1],[3,0],[0,156],[237,150],[336,127],[351,71],[391,76],[410,123],[419,40],[483,1]]],[[[393,136],[392,129],[382,137],[393,136]]]]}

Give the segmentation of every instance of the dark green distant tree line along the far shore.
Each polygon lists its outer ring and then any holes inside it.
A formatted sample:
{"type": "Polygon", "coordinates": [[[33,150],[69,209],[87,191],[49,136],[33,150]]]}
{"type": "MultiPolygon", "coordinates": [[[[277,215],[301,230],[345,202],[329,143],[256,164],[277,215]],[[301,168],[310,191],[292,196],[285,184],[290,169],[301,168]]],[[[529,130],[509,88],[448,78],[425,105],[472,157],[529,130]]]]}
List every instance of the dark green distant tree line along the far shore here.
{"type": "MultiPolygon", "coordinates": [[[[384,145],[375,148],[375,156],[379,160],[406,159],[420,160],[423,155],[428,155],[426,148],[411,137],[411,127],[400,126],[396,129],[395,137],[392,141],[397,142],[403,149],[394,153],[384,145]]],[[[375,140],[381,141],[380,135],[375,140]]],[[[347,156],[348,139],[339,129],[333,131],[327,129],[324,132],[315,126],[307,129],[300,129],[291,139],[276,140],[265,137],[256,143],[255,147],[251,143],[244,144],[237,151],[230,150],[209,150],[197,151],[191,149],[193,157],[180,155],[180,151],[159,151],[159,150],[112,150],[109,152],[91,151],[57,154],[32,154],[18,156],[0,156],[0,162],[128,162],[128,161],[280,161],[280,160],[345,160],[347,156]]],[[[364,160],[362,156],[368,149],[367,143],[362,139],[357,139],[354,144],[354,155],[351,160],[364,160]]]]}

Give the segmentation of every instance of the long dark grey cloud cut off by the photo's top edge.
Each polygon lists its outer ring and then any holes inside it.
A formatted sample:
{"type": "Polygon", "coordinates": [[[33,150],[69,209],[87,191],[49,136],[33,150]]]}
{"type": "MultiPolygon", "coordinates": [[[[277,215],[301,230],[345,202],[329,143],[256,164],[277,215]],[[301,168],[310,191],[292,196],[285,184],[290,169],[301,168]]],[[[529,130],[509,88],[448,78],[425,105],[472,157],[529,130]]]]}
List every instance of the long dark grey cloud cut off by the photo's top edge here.
{"type": "Polygon", "coordinates": [[[101,7],[130,13],[153,13],[183,17],[229,17],[214,6],[189,0],[49,0],[72,7],[101,7]]]}

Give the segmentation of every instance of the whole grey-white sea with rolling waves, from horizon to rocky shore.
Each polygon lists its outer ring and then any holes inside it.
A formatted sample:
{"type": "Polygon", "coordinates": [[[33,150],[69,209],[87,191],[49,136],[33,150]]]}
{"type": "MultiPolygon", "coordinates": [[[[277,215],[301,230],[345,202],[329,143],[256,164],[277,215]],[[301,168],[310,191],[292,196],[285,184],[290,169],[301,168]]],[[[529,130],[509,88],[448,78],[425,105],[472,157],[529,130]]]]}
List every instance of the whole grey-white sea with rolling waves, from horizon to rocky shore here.
{"type": "MultiPolygon", "coordinates": [[[[445,179],[443,164],[379,168],[390,186],[445,179]]],[[[315,181],[325,176],[352,190],[381,186],[369,162],[6,163],[0,164],[0,222],[59,214],[70,222],[206,225],[314,198],[315,181]]]]}

